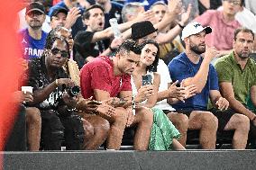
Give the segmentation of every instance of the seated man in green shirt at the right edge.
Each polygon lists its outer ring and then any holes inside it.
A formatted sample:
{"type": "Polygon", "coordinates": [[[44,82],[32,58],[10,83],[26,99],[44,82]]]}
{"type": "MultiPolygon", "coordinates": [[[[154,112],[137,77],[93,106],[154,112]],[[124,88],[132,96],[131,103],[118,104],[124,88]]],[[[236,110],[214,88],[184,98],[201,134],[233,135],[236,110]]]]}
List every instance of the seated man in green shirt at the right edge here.
{"type": "Polygon", "coordinates": [[[234,31],[233,52],[218,59],[215,68],[221,93],[235,112],[251,120],[251,135],[255,139],[256,112],[253,112],[253,106],[256,106],[256,65],[250,58],[253,40],[254,33],[249,29],[234,31]]]}

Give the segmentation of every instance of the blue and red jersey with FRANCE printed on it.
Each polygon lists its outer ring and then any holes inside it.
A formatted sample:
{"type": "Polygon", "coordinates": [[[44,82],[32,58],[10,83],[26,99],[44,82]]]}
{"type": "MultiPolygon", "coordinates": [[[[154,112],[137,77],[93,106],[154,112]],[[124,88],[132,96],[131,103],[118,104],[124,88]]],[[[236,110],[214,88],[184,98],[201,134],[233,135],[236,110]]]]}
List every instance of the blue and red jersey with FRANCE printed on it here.
{"type": "Polygon", "coordinates": [[[45,31],[41,31],[41,40],[33,39],[30,36],[28,29],[20,31],[19,35],[22,40],[23,58],[32,59],[41,57],[47,33],[45,31]]]}

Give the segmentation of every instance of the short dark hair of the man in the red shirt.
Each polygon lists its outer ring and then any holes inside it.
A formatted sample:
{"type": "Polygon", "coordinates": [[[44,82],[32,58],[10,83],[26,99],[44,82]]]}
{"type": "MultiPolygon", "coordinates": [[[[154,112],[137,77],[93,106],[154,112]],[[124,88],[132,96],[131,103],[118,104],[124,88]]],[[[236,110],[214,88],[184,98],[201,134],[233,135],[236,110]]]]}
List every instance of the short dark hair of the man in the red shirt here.
{"type": "Polygon", "coordinates": [[[129,54],[133,51],[135,54],[141,54],[140,46],[134,40],[124,40],[123,43],[116,49],[116,53],[129,54]]]}

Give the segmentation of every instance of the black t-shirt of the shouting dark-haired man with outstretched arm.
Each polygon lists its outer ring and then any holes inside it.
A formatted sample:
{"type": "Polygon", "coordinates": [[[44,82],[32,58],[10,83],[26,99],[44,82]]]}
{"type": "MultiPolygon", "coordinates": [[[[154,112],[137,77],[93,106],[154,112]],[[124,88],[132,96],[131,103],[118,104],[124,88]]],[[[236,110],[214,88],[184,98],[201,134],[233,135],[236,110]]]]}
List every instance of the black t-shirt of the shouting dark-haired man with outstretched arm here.
{"type": "Polygon", "coordinates": [[[84,66],[87,57],[96,58],[108,48],[108,40],[99,40],[96,43],[91,42],[94,33],[95,32],[92,31],[78,31],[78,34],[74,39],[74,49],[76,51],[75,60],[77,61],[79,68],[84,66]]]}

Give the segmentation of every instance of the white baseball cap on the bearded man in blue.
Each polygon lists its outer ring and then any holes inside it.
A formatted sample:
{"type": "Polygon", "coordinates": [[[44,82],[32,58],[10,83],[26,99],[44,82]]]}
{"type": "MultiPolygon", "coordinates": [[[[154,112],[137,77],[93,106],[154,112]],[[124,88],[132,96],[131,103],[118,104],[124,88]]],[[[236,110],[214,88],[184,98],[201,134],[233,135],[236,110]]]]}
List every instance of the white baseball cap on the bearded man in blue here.
{"type": "Polygon", "coordinates": [[[201,31],[206,31],[206,34],[212,32],[212,28],[207,26],[203,27],[201,23],[199,22],[190,22],[187,24],[187,26],[182,31],[181,40],[184,40],[185,38],[189,37],[190,35],[195,35],[201,31]]]}

